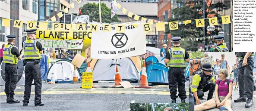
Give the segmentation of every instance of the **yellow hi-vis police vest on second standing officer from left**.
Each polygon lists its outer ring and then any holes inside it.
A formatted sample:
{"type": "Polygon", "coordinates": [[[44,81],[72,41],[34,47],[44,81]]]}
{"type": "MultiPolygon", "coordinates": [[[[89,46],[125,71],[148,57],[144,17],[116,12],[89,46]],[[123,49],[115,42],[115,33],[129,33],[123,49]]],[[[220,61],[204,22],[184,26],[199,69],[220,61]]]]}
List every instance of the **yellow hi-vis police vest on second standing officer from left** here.
{"type": "Polygon", "coordinates": [[[36,47],[36,41],[27,39],[23,42],[24,59],[41,59],[39,49],[36,47]]]}

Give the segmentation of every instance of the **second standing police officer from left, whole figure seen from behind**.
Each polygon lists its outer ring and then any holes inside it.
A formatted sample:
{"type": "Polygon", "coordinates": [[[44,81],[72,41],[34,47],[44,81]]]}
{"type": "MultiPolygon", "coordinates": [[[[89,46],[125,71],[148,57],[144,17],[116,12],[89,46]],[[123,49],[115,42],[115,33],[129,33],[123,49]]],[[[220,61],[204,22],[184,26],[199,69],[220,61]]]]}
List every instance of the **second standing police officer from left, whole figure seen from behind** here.
{"type": "Polygon", "coordinates": [[[40,70],[40,58],[42,53],[42,45],[40,42],[35,41],[36,29],[27,30],[28,39],[22,43],[24,52],[23,64],[25,67],[25,91],[23,106],[28,106],[32,81],[34,79],[35,84],[35,106],[43,106],[41,102],[41,70],[40,70]]]}

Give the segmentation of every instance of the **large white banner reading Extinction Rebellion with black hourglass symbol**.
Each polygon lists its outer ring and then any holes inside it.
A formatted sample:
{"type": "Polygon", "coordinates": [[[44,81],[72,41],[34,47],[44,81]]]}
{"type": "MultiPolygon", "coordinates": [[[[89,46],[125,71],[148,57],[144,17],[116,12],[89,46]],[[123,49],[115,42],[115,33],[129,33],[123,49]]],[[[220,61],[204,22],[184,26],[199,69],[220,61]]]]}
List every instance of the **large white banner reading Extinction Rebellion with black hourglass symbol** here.
{"type": "MultiPolygon", "coordinates": [[[[92,59],[119,59],[139,56],[146,53],[146,34],[142,21],[124,25],[123,33],[117,32],[116,25],[112,25],[110,31],[102,31],[106,27],[99,24],[97,32],[92,32],[91,58],[92,59]],[[133,26],[136,24],[137,26],[133,26]],[[103,28],[102,28],[103,26],[103,28]]],[[[120,29],[121,30],[121,29],[120,29]]]]}

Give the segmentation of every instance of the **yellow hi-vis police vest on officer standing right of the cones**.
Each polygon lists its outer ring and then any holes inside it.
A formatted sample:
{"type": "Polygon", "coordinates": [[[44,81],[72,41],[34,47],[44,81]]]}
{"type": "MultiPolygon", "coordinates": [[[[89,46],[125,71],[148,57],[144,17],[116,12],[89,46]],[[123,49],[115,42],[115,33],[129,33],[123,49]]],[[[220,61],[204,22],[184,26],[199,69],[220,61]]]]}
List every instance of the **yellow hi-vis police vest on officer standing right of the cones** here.
{"type": "Polygon", "coordinates": [[[182,68],[185,67],[185,49],[181,47],[172,47],[168,50],[170,54],[170,60],[167,63],[167,67],[182,68]]]}

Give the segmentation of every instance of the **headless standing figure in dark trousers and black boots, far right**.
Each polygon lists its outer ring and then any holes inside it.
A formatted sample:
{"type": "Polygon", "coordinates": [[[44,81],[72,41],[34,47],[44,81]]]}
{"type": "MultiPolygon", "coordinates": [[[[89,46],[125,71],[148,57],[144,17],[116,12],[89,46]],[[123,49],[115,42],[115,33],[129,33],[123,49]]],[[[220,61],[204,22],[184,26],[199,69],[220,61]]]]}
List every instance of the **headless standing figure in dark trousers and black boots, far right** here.
{"type": "Polygon", "coordinates": [[[254,52],[236,52],[238,60],[239,98],[234,102],[246,102],[245,108],[253,106],[254,52]],[[246,88],[245,88],[246,87],[246,88]],[[248,98],[248,99],[247,99],[248,98]]]}

